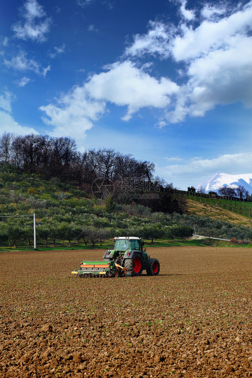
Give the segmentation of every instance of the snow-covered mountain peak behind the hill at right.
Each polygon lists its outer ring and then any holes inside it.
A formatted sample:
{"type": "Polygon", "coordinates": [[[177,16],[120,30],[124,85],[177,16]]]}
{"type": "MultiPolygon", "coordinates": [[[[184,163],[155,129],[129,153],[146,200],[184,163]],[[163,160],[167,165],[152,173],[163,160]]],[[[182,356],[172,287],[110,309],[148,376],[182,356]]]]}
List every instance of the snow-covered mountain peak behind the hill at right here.
{"type": "Polygon", "coordinates": [[[218,192],[220,186],[239,186],[243,185],[249,194],[252,193],[252,173],[242,175],[227,175],[226,173],[216,173],[212,177],[208,178],[203,183],[196,187],[197,189],[202,186],[206,193],[209,191],[218,192]]]}

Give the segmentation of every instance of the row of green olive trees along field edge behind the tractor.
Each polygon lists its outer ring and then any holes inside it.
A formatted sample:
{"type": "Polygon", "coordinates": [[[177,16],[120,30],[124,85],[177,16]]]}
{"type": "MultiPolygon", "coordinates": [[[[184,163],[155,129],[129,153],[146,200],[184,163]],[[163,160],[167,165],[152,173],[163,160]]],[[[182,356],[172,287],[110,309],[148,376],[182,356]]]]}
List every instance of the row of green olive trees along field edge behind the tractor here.
{"type": "MultiPolygon", "coordinates": [[[[184,238],[192,236],[193,228],[191,226],[178,224],[173,222],[169,215],[164,213],[153,213],[145,218],[132,217],[131,220],[122,218],[124,215],[104,214],[104,218],[96,217],[93,214],[83,214],[74,216],[73,214],[65,214],[64,216],[54,215],[51,219],[42,218],[37,222],[36,234],[37,242],[45,242],[51,240],[53,246],[56,241],[68,241],[69,246],[76,240],[79,243],[83,240],[85,245],[95,244],[114,236],[122,235],[139,235],[139,237],[151,240],[154,239],[184,238]]],[[[32,220],[24,218],[15,218],[0,223],[0,240],[9,242],[17,248],[18,242],[27,242],[31,245],[33,239],[33,223],[32,220]]]]}

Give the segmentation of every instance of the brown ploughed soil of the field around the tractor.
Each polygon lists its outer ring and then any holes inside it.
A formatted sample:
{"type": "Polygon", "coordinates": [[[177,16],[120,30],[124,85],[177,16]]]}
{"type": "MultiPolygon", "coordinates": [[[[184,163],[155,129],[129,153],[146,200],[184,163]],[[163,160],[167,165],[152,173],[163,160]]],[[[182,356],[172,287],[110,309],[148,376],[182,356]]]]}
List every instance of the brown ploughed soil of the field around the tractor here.
{"type": "Polygon", "coordinates": [[[101,250],[0,254],[0,376],[251,376],[251,250],[148,252],[157,277],[71,275],[101,250]]]}

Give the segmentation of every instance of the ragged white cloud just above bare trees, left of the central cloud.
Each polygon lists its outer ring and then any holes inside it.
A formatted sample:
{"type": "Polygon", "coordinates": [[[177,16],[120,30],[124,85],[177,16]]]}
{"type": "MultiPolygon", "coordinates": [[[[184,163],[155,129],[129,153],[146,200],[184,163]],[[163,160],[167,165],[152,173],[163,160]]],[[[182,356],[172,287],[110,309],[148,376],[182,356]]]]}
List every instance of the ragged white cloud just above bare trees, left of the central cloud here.
{"type": "Polygon", "coordinates": [[[105,110],[104,101],[94,101],[85,87],[73,87],[66,95],[62,95],[56,104],[41,106],[46,113],[43,117],[46,125],[52,128],[47,133],[51,136],[72,135],[83,142],[85,132],[93,127],[105,110]],[[60,125],[60,123],[62,125],[60,125]]]}

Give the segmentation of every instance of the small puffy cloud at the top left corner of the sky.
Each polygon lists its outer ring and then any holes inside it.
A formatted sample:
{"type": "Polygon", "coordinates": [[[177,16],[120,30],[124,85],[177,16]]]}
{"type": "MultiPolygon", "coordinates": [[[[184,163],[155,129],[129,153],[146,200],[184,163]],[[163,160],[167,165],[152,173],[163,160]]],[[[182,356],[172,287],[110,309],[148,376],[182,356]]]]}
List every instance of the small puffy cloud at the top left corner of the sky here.
{"type": "Polygon", "coordinates": [[[37,42],[44,42],[46,34],[49,33],[51,19],[37,21],[46,16],[42,6],[39,5],[37,0],[28,0],[24,3],[21,11],[22,17],[25,22],[17,22],[12,26],[15,37],[19,39],[32,39],[37,42]]]}

